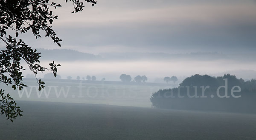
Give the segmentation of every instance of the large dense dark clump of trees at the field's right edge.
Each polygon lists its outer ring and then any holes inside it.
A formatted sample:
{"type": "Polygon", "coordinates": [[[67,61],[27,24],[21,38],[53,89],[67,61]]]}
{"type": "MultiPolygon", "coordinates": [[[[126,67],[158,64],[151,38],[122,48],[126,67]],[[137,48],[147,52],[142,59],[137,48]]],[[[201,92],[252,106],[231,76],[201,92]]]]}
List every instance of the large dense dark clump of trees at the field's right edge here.
{"type": "Polygon", "coordinates": [[[195,75],[179,87],[153,93],[150,100],[152,106],[164,109],[256,113],[256,80],[244,81],[230,74],[195,75]]]}

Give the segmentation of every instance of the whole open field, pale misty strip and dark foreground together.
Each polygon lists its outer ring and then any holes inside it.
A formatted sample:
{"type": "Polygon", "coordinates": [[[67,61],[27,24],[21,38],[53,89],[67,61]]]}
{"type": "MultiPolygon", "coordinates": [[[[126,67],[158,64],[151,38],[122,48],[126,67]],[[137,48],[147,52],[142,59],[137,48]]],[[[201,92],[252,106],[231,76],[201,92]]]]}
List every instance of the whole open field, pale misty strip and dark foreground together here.
{"type": "MultiPolygon", "coordinates": [[[[6,88],[23,117],[0,115],[5,140],[255,140],[256,115],[149,108],[166,85],[25,79],[27,91],[6,88]],[[62,89],[62,90],[61,90],[62,89]],[[81,104],[77,104],[81,103],[81,104]],[[113,106],[115,105],[115,106],[113,106]],[[128,107],[130,106],[130,107],[128,107]]],[[[1,88],[5,86],[1,85],[1,88]]]]}

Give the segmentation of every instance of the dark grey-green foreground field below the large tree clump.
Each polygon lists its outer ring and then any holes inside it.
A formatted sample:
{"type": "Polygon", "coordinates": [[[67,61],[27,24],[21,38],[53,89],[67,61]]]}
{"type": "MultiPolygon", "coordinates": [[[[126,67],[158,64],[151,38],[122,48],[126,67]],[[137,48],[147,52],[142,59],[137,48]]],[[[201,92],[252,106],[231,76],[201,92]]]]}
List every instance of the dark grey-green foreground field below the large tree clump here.
{"type": "Polygon", "coordinates": [[[23,102],[23,117],[0,116],[1,140],[255,140],[256,115],[23,102]]]}

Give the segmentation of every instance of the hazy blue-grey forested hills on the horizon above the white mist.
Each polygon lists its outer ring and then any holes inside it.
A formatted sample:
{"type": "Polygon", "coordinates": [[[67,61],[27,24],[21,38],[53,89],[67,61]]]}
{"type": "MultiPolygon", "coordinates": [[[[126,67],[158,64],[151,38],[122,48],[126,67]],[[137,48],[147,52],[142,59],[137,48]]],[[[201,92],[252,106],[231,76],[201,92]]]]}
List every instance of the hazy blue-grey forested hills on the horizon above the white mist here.
{"type": "Polygon", "coordinates": [[[181,61],[181,60],[236,60],[238,62],[252,62],[256,55],[247,54],[222,54],[216,52],[197,52],[197,53],[152,53],[152,52],[110,52],[99,53],[95,55],[92,53],[84,53],[78,50],[71,49],[37,49],[41,52],[41,60],[56,60],[56,61],[74,61],[74,60],[161,60],[161,61],[181,61]],[[58,54],[58,55],[57,55],[58,54]],[[250,57],[249,57],[250,56],[250,57]]]}

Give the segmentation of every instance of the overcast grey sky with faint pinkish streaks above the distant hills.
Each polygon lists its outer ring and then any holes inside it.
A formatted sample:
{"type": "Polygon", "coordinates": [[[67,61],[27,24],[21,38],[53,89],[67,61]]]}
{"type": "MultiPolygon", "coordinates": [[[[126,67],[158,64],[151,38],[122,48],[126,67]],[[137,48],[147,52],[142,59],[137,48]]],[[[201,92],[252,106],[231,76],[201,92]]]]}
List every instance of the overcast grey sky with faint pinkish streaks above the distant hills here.
{"type": "MultiPolygon", "coordinates": [[[[102,52],[256,51],[255,0],[97,0],[71,14],[54,11],[62,48],[102,52]]],[[[35,48],[58,48],[51,39],[24,36],[35,48]]]]}

